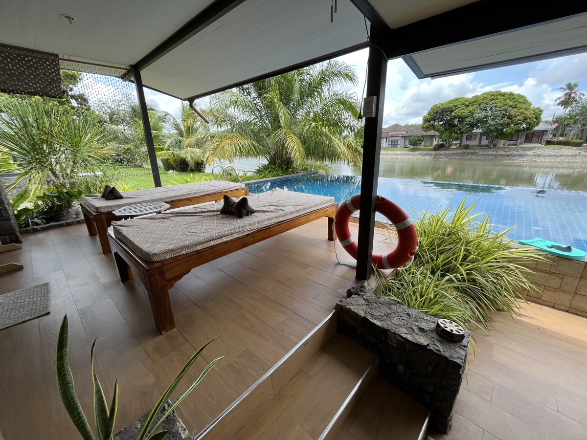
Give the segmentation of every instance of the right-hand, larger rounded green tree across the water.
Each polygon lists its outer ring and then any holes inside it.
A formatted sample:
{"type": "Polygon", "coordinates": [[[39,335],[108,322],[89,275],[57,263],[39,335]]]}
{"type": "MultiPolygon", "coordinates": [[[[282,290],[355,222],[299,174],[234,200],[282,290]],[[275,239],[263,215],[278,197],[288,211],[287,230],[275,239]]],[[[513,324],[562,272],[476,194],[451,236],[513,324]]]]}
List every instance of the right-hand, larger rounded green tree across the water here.
{"type": "Polygon", "coordinates": [[[497,139],[509,139],[523,131],[534,129],[542,117],[542,109],[522,94],[513,92],[485,92],[469,101],[464,126],[478,128],[488,138],[488,144],[497,139]]]}

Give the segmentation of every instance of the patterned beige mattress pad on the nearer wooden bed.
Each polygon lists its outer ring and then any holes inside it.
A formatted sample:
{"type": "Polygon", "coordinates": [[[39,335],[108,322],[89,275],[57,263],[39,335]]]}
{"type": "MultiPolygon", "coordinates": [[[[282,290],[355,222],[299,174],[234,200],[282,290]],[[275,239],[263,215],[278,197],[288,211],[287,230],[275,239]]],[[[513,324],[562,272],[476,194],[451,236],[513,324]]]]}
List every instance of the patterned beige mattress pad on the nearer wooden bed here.
{"type": "Polygon", "coordinates": [[[220,214],[221,203],[112,222],[114,236],[140,258],[161,261],[328,207],[333,197],[273,189],[248,196],[253,215],[220,214]]]}

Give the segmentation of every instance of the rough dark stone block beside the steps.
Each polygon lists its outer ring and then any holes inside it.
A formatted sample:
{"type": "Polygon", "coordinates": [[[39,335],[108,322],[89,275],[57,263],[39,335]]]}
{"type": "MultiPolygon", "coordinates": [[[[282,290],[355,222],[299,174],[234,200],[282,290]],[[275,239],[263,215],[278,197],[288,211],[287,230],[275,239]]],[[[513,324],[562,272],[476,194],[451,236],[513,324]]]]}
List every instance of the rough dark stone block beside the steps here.
{"type": "Polygon", "coordinates": [[[338,331],[380,358],[380,373],[431,410],[431,424],[451,428],[470,334],[458,343],[436,334],[438,319],[367,293],[336,304],[338,331]]]}

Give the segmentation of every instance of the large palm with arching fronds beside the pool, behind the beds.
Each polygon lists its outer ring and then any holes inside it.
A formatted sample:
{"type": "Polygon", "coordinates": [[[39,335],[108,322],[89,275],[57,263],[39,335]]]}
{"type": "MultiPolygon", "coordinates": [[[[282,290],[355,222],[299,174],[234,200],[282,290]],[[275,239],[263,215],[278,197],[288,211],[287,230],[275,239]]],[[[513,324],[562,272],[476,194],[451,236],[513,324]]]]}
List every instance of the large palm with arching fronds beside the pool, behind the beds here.
{"type": "Polygon", "coordinates": [[[358,167],[359,103],[339,90],[356,83],[350,66],[330,61],[218,94],[206,114],[220,131],[198,135],[207,163],[264,157],[279,170],[308,161],[358,167]]]}

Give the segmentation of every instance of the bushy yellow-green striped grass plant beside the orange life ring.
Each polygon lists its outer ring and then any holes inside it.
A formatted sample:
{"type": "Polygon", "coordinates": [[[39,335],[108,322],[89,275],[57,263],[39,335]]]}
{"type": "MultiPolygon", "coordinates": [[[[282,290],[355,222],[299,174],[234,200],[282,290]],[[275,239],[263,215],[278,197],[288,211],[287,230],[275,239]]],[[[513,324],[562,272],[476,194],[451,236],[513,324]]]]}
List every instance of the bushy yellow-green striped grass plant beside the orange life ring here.
{"type": "Polygon", "coordinates": [[[413,263],[387,277],[375,270],[377,291],[467,329],[487,329],[492,313],[514,315],[518,303],[525,302],[521,292],[535,290],[526,278],[532,270],[522,263],[545,259],[505,236],[514,226],[497,232],[489,215],[471,214],[475,203],[465,202],[453,214],[447,208],[418,215],[413,263]]]}

